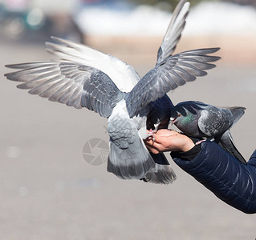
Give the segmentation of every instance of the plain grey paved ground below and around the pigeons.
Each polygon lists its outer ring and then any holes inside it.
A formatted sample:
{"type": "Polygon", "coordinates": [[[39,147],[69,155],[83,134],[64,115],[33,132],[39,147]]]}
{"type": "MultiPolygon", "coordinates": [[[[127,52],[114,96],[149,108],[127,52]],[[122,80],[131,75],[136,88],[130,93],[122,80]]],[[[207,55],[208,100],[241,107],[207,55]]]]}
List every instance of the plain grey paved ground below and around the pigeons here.
{"type": "MultiPolygon", "coordinates": [[[[1,44],[0,53],[1,74],[6,63],[48,58],[43,46],[1,44]]],[[[149,65],[136,62],[136,69],[143,74],[149,65]]],[[[222,61],[169,94],[174,103],[246,106],[232,130],[246,158],[256,147],[254,66],[222,61]]],[[[83,145],[108,142],[104,118],[31,96],[3,76],[0,89],[1,239],[256,238],[256,215],[226,206],[174,163],[177,181],[170,186],[122,181],[106,164],[87,164],[83,145]]]]}

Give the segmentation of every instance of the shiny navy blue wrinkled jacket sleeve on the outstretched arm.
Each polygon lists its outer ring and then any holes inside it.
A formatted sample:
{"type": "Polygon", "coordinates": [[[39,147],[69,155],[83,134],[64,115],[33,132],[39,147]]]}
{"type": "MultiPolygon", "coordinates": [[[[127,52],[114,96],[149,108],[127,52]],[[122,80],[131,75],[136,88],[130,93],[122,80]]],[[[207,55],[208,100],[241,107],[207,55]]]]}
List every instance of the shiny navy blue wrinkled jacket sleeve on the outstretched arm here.
{"type": "Polygon", "coordinates": [[[205,141],[195,158],[173,154],[173,160],[217,198],[246,214],[256,213],[256,150],[245,165],[217,143],[205,141]]]}

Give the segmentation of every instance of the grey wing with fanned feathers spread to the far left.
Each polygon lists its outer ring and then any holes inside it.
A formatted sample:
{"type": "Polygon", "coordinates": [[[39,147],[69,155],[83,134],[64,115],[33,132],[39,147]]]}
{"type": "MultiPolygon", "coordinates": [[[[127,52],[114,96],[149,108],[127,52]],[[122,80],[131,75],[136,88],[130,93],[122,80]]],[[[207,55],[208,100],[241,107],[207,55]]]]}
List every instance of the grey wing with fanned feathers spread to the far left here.
{"type": "Polygon", "coordinates": [[[79,63],[31,62],[7,67],[21,69],[5,74],[12,81],[23,82],[18,88],[30,89],[30,94],[77,109],[86,107],[106,118],[116,103],[124,98],[124,93],[107,74],[79,63]]]}

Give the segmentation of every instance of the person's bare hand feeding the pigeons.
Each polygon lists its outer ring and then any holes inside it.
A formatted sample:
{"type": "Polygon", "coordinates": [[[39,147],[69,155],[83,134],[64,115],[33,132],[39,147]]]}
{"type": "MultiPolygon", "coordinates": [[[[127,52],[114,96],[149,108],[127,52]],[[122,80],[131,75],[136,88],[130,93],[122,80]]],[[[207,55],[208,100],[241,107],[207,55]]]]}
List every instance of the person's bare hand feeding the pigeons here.
{"type": "Polygon", "coordinates": [[[156,132],[155,141],[152,139],[144,140],[148,150],[153,154],[166,151],[188,151],[195,146],[193,141],[184,134],[179,134],[177,131],[161,129],[156,132]]]}

